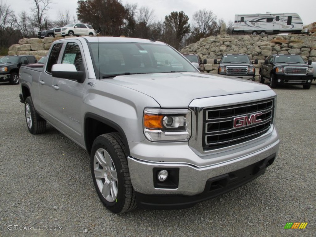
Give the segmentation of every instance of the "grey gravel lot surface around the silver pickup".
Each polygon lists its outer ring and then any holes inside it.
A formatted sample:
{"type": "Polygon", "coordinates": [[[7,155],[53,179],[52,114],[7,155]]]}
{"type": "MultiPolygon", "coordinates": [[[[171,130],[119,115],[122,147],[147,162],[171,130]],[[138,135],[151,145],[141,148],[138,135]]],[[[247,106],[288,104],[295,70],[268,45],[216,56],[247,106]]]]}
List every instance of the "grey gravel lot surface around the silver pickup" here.
{"type": "Polygon", "coordinates": [[[30,134],[19,86],[1,84],[0,236],[316,236],[316,82],[275,91],[281,146],[264,175],[190,209],[114,215],[94,190],[87,152],[49,125],[30,134]],[[284,230],[287,222],[308,224],[284,230]]]}

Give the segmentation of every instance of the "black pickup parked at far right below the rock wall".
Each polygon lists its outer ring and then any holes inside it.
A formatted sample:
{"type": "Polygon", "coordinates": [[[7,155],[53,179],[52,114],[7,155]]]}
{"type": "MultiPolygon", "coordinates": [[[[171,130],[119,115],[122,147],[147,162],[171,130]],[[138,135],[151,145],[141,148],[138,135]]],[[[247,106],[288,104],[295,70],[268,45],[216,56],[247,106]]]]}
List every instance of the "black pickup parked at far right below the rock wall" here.
{"type": "Polygon", "coordinates": [[[264,78],[270,81],[270,87],[277,85],[302,85],[309,89],[313,80],[313,67],[311,60],[305,63],[300,55],[274,54],[264,60],[259,69],[259,82],[264,78]]]}

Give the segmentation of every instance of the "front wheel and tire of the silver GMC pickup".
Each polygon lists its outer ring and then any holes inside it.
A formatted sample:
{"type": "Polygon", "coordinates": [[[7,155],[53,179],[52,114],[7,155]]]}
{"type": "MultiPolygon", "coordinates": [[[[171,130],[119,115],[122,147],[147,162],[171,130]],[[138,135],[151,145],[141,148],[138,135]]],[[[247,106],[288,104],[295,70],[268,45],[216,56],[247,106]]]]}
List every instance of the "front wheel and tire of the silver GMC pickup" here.
{"type": "Polygon", "coordinates": [[[113,213],[136,208],[125,144],[116,133],[102,134],[92,145],[90,166],[95,190],[102,204],[113,213]]]}

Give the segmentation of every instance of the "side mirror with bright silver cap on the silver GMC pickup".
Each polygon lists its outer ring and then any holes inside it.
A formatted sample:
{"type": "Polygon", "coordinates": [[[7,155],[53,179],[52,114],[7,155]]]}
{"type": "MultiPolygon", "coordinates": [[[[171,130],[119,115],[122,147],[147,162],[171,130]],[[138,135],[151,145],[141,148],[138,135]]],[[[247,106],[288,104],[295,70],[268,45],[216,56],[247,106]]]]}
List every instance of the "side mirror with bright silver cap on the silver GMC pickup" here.
{"type": "Polygon", "coordinates": [[[52,76],[84,82],[86,77],[84,71],[77,71],[74,64],[54,64],[52,66],[52,76]]]}

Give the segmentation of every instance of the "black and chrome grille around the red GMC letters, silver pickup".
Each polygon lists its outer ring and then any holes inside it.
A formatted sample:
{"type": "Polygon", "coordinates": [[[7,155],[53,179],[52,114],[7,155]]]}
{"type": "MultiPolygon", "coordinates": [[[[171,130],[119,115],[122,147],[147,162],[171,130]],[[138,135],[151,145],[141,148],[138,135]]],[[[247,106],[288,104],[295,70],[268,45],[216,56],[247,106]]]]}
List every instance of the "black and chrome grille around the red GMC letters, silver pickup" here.
{"type": "Polygon", "coordinates": [[[202,135],[204,151],[246,142],[267,132],[272,123],[273,101],[264,100],[204,109],[202,135]],[[234,128],[235,118],[244,117],[246,120],[251,120],[254,114],[258,113],[260,114],[257,117],[259,122],[249,122],[245,126],[234,128]]]}

